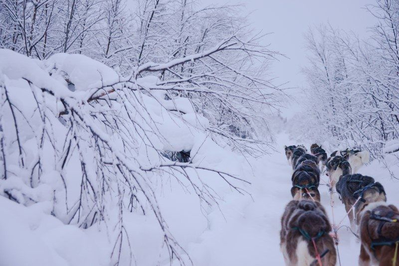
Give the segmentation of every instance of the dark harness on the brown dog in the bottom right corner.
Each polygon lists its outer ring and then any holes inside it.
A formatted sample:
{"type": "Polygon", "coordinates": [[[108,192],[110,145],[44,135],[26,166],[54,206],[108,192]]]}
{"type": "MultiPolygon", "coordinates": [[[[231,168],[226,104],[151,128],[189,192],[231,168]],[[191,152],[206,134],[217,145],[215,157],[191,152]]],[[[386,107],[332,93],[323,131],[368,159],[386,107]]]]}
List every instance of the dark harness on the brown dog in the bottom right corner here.
{"type": "MultiPolygon", "coordinates": [[[[397,223],[398,222],[398,219],[392,219],[392,217],[394,217],[395,215],[396,215],[396,213],[394,213],[394,212],[389,212],[386,216],[380,216],[375,213],[372,213],[370,215],[370,219],[380,221],[380,224],[378,225],[378,228],[377,228],[378,239],[372,240],[371,246],[370,246],[371,249],[373,250],[374,257],[377,258],[376,246],[396,246],[395,247],[395,256],[394,256],[394,259],[392,260],[394,266],[396,265],[396,262],[397,262],[399,239],[396,239],[396,240],[388,239],[386,237],[383,237],[381,232],[386,223],[397,223]]],[[[367,233],[369,234],[369,237],[370,237],[369,226],[367,226],[367,233]]],[[[372,238],[370,237],[370,239],[372,239],[372,238]]]]}

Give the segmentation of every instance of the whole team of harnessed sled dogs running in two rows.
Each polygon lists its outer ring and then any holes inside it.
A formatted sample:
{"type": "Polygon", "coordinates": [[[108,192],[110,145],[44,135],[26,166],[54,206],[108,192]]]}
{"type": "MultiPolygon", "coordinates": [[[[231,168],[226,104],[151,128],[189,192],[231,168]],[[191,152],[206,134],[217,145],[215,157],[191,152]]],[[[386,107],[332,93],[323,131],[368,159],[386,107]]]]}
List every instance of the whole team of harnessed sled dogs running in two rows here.
{"type": "MultiPolygon", "coordinates": [[[[384,187],[373,177],[357,174],[369,162],[369,152],[326,151],[313,144],[285,146],[291,164],[293,200],[281,218],[280,247],[289,266],[335,266],[336,230],[320,204],[320,175],[326,167],[330,193],[336,191],[353,231],[361,241],[359,265],[399,266],[399,211],[386,203],[384,187]],[[321,164],[321,170],[319,165],[321,164]],[[332,232],[334,231],[334,233],[332,232]]],[[[333,225],[335,226],[335,225],[333,225]]]]}

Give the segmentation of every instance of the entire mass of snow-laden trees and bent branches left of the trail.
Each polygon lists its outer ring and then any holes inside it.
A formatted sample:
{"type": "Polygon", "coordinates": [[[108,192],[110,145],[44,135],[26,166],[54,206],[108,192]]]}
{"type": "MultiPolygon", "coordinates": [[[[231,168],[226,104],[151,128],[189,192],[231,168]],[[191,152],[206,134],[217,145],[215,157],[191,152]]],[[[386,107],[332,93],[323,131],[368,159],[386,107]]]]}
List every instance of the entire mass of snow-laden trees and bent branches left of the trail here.
{"type": "Polygon", "coordinates": [[[0,194],[65,224],[100,226],[112,264],[134,261],[125,213],[153,217],[169,254],[161,259],[188,264],[157,188],[172,178],[202,208],[219,199],[209,176],[245,193],[249,181],[212,160],[225,149],[267,152],[271,136],[257,129],[278,111],[266,75],[276,53],[234,7],[135,8],[0,2],[0,194]]]}

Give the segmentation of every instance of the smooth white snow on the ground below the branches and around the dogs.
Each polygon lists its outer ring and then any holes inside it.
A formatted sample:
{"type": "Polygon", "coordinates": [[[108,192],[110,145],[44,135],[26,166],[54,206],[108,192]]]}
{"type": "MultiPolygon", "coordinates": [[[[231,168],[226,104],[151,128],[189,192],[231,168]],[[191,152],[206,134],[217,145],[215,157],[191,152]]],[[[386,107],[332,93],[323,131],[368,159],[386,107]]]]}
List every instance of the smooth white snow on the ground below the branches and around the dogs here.
{"type": "MultiPolygon", "coordinates": [[[[172,234],[198,266],[261,266],[283,265],[279,248],[280,217],[291,200],[291,172],[283,153],[284,144],[293,144],[286,134],[279,134],[278,151],[252,159],[250,167],[242,160],[232,161],[231,167],[243,167],[251,185],[241,195],[226,189],[218,180],[213,182],[221,197],[219,208],[200,208],[198,197],[183,190],[172,189],[176,184],[159,189],[159,203],[172,234]]],[[[306,143],[309,144],[309,143],[306,143]]],[[[221,160],[219,163],[228,163],[221,160]]],[[[228,166],[228,165],[226,165],[228,166]]],[[[238,167],[238,168],[240,168],[238,167]]],[[[397,204],[398,181],[377,161],[361,168],[360,173],[382,182],[388,201],[397,204]]],[[[213,177],[209,177],[213,178],[213,177]]],[[[322,179],[327,180],[326,176],[322,179]]],[[[323,181],[322,181],[323,183],[323,181]]],[[[332,222],[330,194],[320,186],[322,204],[332,222]]],[[[334,196],[335,222],[345,216],[338,196],[334,196]]],[[[0,197],[1,266],[6,265],[107,265],[107,236],[99,227],[82,230],[62,224],[40,208],[24,207],[0,197]],[[5,240],[5,241],[4,241],[5,240]],[[4,256],[4,255],[7,256],[4,256]]],[[[162,258],[159,226],[146,216],[129,214],[129,222],[137,225],[129,232],[136,265],[168,265],[162,258]]],[[[150,216],[151,217],[151,216],[150,216]]],[[[349,225],[345,218],[343,225],[349,225]]],[[[357,265],[359,242],[346,228],[339,230],[339,253],[343,266],[357,265]]]]}

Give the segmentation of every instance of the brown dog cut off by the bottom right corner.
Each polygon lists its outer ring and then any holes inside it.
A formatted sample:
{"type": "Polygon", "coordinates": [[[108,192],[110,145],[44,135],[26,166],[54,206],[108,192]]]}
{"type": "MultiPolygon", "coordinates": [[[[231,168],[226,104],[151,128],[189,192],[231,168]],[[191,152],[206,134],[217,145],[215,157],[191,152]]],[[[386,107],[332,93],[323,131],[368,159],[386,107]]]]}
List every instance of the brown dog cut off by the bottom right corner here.
{"type": "Polygon", "coordinates": [[[359,265],[392,266],[399,256],[399,210],[383,202],[369,204],[362,212],[360,221],[359,265]]]}

